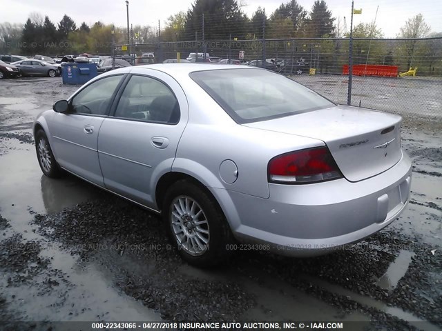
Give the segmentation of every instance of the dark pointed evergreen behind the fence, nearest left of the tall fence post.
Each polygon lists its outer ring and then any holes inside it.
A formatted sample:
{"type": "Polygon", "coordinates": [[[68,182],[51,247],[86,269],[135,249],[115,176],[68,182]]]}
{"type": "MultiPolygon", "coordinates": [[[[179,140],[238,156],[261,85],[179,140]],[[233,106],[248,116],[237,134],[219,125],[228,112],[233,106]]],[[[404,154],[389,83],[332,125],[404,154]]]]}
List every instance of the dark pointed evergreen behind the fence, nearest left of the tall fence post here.
{"type": "Polygon", "coordinates": [[[305,27],[306,37],[334,37],[334,17],[324,0],[316,0],[309,13],[305,27]]]}

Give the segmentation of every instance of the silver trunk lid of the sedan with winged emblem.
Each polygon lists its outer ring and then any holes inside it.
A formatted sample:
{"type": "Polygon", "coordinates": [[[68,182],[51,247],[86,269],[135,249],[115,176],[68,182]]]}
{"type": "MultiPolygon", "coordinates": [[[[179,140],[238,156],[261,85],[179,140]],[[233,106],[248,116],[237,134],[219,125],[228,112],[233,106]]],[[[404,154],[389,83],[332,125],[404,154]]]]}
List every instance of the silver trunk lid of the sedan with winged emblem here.
{"type": "Polygon", "coordinates": [[[361,181],[401,159],[401,120],[396,114],[336,106],[244,126],[320,139],[344,177],[361,181]]]}

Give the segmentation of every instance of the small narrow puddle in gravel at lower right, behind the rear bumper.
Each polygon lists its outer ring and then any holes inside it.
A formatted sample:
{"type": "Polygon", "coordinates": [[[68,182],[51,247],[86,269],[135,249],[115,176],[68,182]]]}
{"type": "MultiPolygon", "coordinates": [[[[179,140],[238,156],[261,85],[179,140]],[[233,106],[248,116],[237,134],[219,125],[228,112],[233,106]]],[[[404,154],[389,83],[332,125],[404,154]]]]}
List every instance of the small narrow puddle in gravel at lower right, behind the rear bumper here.
{"type": "Polygon", "coordinates": [[[409,250],[401,250],[396,259],[390,263],[385,274],[378,279],[376,285],[384,290],[392,292],[401,278],[404,277],[405,272],[407,272],[408,266],[412,262],[412,257],[414,257],[414,255],[416,254],[409,250]]]}

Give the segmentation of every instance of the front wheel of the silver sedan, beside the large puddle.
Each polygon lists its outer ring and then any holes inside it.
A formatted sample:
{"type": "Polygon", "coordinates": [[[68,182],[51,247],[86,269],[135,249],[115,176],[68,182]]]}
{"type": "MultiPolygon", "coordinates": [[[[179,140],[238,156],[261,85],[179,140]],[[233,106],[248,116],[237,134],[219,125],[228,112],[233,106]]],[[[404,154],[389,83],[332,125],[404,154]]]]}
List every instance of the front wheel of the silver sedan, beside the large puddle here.
{"type": "Polygon", "coordinates": [[[35,134],[35,150],[37,151],[37,159],[41,171],[50,178],[60,177],[62,174],[61,168],[57,161],[55,161],[48,137],[44,130],[38,130],[35,134]]]}

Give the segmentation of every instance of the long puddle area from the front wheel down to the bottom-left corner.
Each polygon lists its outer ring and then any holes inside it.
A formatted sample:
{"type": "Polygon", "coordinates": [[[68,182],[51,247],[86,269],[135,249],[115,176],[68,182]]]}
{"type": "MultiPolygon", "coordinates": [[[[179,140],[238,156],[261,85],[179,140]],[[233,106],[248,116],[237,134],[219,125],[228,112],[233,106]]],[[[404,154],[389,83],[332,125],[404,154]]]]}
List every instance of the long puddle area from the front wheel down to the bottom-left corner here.
{"type": "Polygon", "coordinates": [[[160,321],[158,314],[114,288],[99,263],[78,265],[77,257],[33,232],[30,211],[60,212],[91,199],[99,190],[69,175],[49,179],[41,173],[34,146],[15,139],[8,146],[12,150],[0,157],[0,213],[10,220],[8,236],[18,232],[24,241],[39,241],[40,256],[50,259],[50,268],[65,274],[60,278],[45,270],[32,279],[32,285],[19,286],[8,286],[6,279],[12,274],[4,274],[0,288],[8,288],[8,310],[19,312],[23,321],[160,321]],[[58,284],[42,289],[48,278],[58,284]]]}

